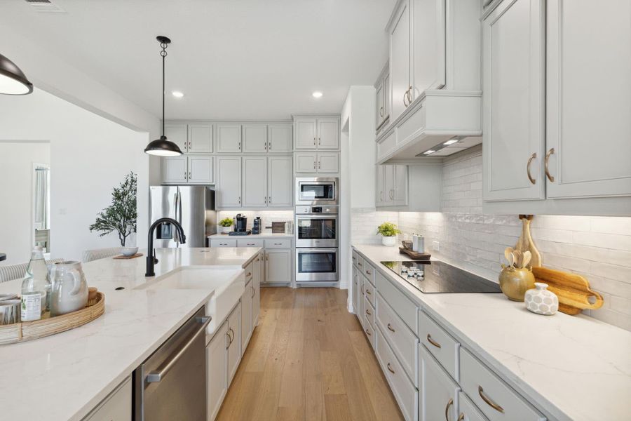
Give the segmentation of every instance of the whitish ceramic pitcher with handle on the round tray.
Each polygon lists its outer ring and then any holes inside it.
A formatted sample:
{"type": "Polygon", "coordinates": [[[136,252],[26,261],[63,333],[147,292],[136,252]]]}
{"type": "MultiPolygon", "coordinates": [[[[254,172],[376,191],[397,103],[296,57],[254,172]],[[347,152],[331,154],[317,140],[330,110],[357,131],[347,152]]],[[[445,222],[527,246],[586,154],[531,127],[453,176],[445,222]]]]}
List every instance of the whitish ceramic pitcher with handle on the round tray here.
{"type": "Polygon", "coordinates": [[[53,266],[50,316],[76,312],[88,305],[88,283],[81,262],[58,262],[53,266]]]}

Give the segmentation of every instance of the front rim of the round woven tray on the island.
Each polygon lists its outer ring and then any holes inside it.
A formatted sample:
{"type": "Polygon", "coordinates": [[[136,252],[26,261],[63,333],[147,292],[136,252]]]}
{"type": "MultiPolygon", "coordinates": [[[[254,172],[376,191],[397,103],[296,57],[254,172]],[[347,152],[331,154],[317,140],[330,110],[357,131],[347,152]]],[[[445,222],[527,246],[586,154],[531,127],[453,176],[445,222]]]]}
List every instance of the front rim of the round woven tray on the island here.
{"type": "Polygon", "coordinates": [[[105,295],[97,293],[95,305],[85,307],[76,312],[63,314],[36,321],[22,321],[10,325],[0,326],[0,345],[13,344],[55,335],[55,333],[83,326],[105,312],[105,295]]]}

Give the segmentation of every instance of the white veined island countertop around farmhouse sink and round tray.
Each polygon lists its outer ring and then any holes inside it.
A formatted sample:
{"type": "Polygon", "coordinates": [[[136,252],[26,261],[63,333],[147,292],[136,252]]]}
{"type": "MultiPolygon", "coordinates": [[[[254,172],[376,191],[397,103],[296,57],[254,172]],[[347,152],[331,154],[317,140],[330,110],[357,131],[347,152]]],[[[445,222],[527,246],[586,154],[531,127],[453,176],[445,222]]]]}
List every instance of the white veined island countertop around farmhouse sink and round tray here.
{"type": "MultiPolygon", "coordinates": [[[[260,248],[158,248],[156,278],[205,268],[229,282],[260,248]]],[[[145,256],[84,263],[89,286],[105,294],[105,314],[29,342],[0,345],[0,419],[81,420],[172,333],[205,305],[215,288],[133,289],[146,283],[145,256]],[[123,286],[124,290],[114,288],[123,286]]],[[[151,278],[153,279],[153,278],[151,278]]],[[[19,293],[22,280],[0,283],[19,293]]]]}

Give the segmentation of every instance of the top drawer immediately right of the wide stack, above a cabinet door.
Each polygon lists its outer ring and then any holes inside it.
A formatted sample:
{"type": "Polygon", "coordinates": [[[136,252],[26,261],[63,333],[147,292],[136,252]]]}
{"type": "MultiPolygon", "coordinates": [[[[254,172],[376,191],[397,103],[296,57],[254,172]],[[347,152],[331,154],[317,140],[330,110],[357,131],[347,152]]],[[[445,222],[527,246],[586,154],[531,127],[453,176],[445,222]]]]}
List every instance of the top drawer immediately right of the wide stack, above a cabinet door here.
{"type": "Polygon", "coordinates": [[[438,360],[442,368],[445,368],[447,373],[458,381],[460,344],[423,312],[419,312],[419,340],[438,360]]]}

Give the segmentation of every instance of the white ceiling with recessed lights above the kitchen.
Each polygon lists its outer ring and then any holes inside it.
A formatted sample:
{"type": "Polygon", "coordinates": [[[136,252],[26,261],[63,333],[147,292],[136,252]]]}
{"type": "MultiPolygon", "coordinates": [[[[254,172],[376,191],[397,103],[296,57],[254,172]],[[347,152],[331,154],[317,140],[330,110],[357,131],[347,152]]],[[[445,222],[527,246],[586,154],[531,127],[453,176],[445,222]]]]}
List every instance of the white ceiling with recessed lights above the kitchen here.
{"type": "Polygon", "coordinates": [[[52,1],[66,13],[36,13],[25,0],[1,0],[0,25],[55,51],[156,116],[161,114],[161,58],[155,37],[172,39],[166,60],[167,119],[339,113],[348,87],[372,85],[386,62],[384,27],[395,4],[52,1]],[[172,90],[184,92],[184,98],[173,98],[172,90]],[[313,91],[322,91],[323,98],[312,98],[313,91]]]}

